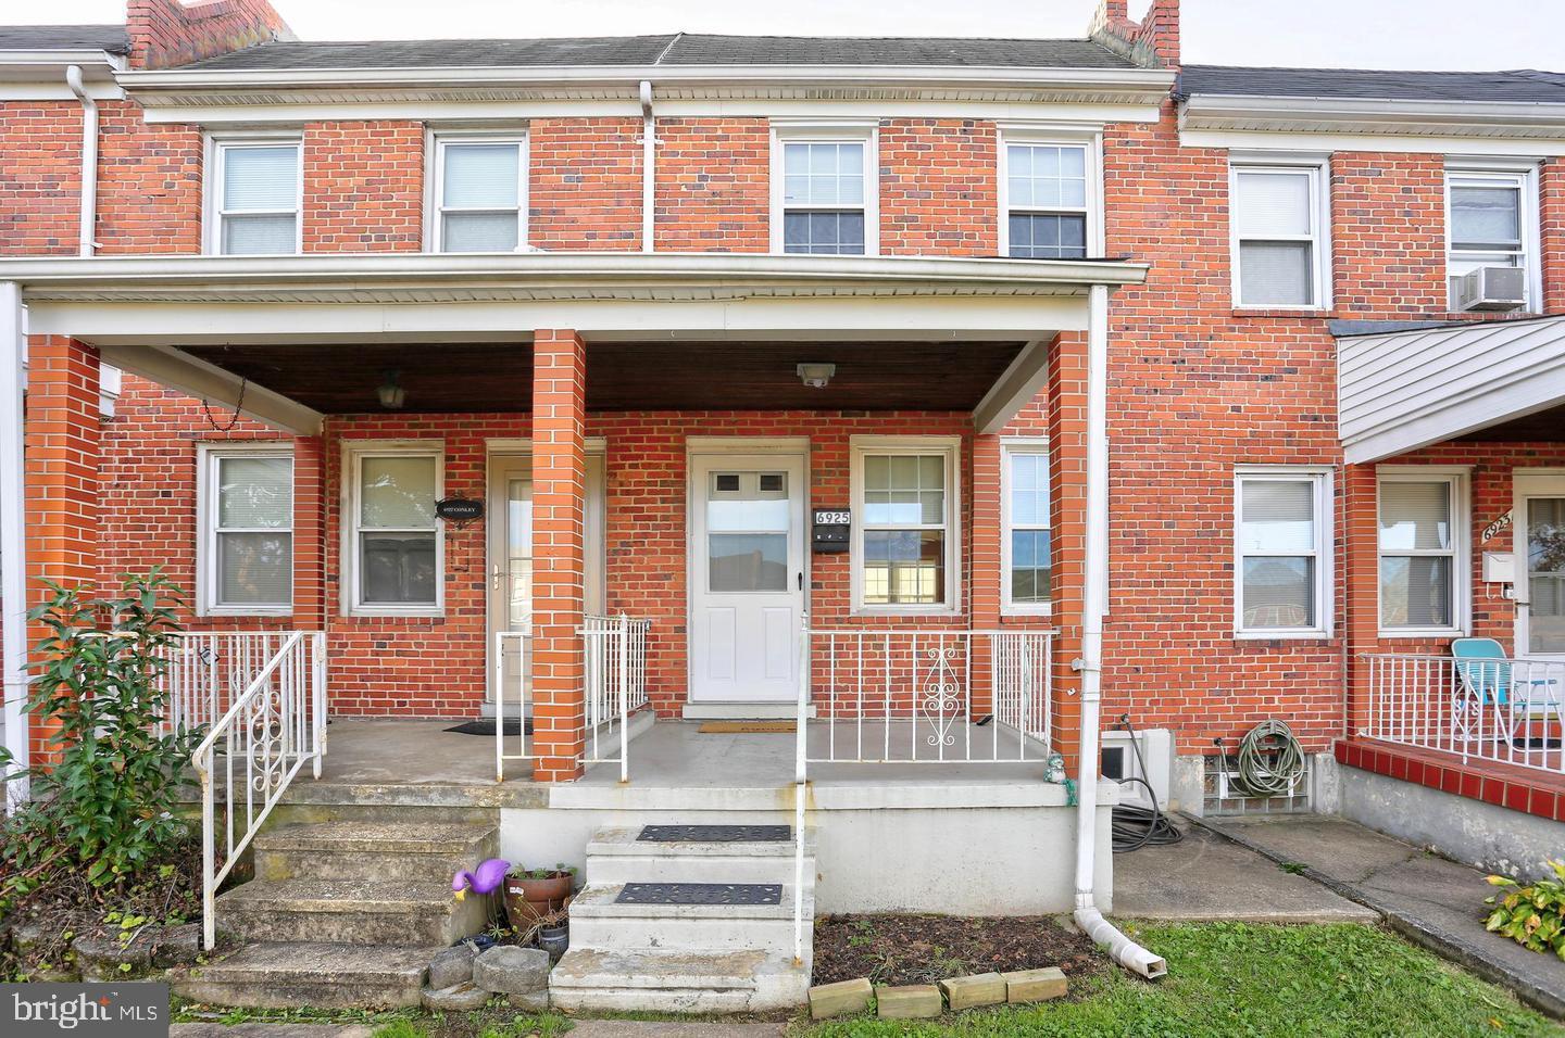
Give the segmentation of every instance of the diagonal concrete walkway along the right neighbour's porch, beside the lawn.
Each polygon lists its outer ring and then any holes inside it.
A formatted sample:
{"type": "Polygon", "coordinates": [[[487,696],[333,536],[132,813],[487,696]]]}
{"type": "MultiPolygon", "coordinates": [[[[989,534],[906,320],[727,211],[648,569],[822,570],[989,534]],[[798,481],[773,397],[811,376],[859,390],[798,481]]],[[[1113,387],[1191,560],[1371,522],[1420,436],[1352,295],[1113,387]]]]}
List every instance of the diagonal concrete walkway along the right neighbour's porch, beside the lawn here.
{"type": "MultiPolygon", "coordinates": [[[[1341,818],[1213,818],[1202,825],[1385,916],[1391,929],[1565,1018],[1565,963],[1484,930],[1484,874],[1341,818]]],[[[1117,899],[1116,899],[1117,902],[1117,899]]],[[[1116,904],[1116,908],[1119,905],[1116,904]]]]}

